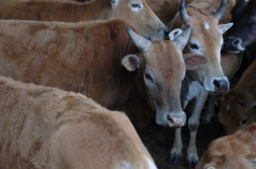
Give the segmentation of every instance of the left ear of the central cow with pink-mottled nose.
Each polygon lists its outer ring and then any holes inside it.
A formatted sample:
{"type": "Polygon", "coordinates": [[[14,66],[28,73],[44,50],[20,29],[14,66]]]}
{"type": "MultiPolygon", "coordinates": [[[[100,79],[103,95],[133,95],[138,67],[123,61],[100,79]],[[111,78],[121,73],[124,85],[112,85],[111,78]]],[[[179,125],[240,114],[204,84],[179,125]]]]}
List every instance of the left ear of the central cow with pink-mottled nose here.
{"type": "Polygon", "coordinates": [[[134,54],[129,54],[122,59],[122,64],[132,72],[140,67],[140,58],[134,54]]]}

